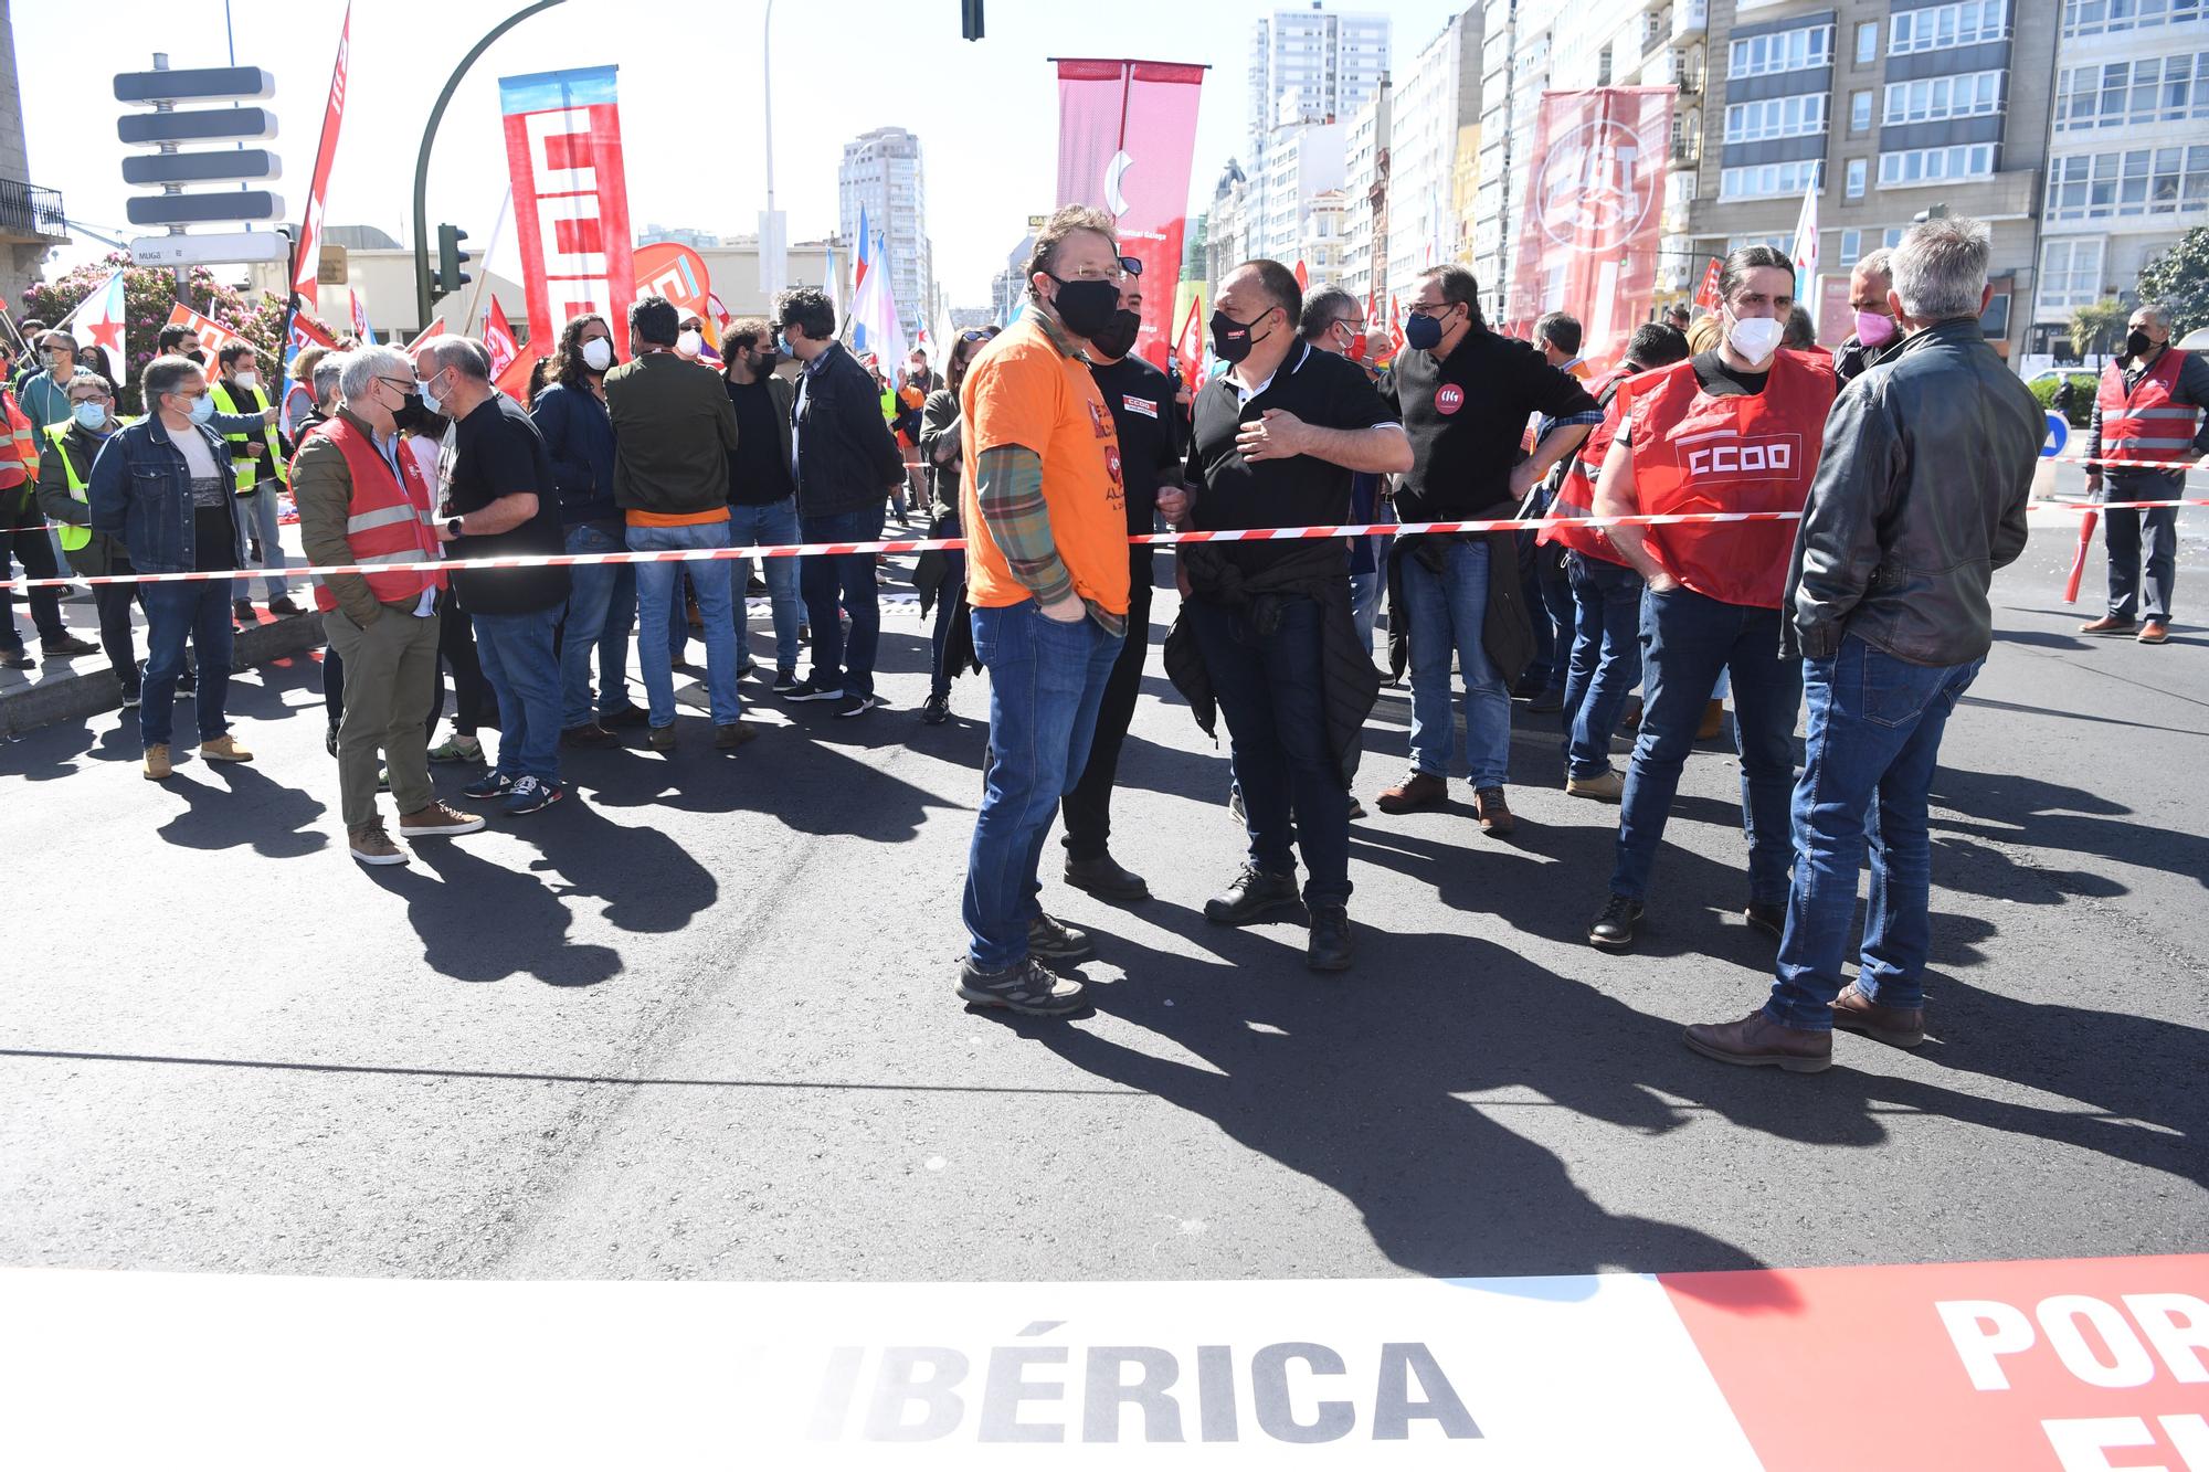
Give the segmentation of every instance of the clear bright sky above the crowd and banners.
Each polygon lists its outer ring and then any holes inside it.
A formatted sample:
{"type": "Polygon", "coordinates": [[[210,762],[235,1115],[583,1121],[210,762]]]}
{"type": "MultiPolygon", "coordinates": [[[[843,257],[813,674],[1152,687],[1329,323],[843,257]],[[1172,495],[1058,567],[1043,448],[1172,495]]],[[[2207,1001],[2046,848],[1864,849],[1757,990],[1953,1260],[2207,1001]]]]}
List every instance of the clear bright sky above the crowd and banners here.
{"type": "MultiPolygon", "coordinates": [[[[468,46],[526,0],[358,0],[345,130],[327,221],[411,239],[413,164],[437,88],[468,46]]],[[[506,197],[497,77],[561,66],[621,69],[630,219],[744,234],[764,203],[764,0],[568,0],[515,27],[477,60],[446,108],[429,175],[431,228],[451,221],[482,252],[506,197]]],[[[1257,0],[987,0],[987,40],[959,40],[956,0],[778,0],[773,13],[775,203],[791,239],[835,228],[846,139],[903,126],[921,137],[928,234],[954,307],[985,305],[1032,212],[1051,208],[1058,91],[1047,57],[1133,55],[1208,62],[1191,168],[1191,212],[1244,146],[1257,0]]],[[[1401,73],[1465,0],[1374,0],[1401,73]]],[[[276,77],[267,106],[296,221],[314,170],[342,0],[230,0],[239,64],[276,77]]],[[[223,66],[223,0],[13,0],[31,181],[62,190],[71,219],[128,239],[126,148],[110,75],[223,66]]],[[[60,256],[104,252],[91,236],[60,256]]],[[[519,276],[512,232],[493,265],[519,276]]],[[[373,303],[371,303],[373,309],[373,303]]]]}

